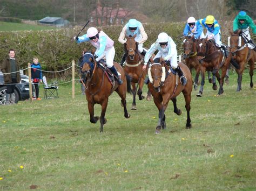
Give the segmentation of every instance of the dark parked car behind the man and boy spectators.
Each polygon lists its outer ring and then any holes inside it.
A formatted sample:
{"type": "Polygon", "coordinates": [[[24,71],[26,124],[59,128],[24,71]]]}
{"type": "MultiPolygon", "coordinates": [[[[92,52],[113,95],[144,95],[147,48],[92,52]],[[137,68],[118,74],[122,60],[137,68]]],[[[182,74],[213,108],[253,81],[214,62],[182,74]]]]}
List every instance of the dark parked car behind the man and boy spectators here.
{"type": "MultiPolygon", "coordinates": [[[[15,103],[29,99],[29,76],[21,74],[21,83],[15,86],[15,103]]],[[[0,105],[5,104],[6,86],[4,85],[4,75],[0,71],[0,105]]],[[[35,97],[35,88],[32,86],[32,94],[35,97]]]]}

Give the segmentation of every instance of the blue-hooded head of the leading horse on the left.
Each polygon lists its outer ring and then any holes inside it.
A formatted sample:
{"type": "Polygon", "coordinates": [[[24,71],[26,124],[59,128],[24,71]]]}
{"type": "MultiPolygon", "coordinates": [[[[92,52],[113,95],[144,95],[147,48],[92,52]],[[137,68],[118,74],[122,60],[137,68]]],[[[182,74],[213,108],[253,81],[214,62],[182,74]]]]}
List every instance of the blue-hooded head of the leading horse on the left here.
{"type": "Polygon", "coordinates": [[[83,67],[81,69],[81,73],[85,74],[85,76],[87,77],[87,75],[93,71],[95,65],[95,56],[91,52],[84,53],[83,67]]]}

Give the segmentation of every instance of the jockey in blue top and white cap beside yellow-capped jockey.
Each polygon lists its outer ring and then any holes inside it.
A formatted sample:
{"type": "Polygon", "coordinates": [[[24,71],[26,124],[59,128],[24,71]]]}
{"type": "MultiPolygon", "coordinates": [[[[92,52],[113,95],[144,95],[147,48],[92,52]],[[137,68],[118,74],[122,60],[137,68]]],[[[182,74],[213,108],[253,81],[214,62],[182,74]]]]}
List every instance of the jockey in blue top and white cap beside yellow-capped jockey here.
{"type": "Polygon", "coordinates": [[[200,25],[200,23],[194,17],[187,19],[187,24],[185,25],[183,34],[185,37],[194,35],[195,39],[198,39],[199,37],[205,38],[202,25],[200,25]]]}

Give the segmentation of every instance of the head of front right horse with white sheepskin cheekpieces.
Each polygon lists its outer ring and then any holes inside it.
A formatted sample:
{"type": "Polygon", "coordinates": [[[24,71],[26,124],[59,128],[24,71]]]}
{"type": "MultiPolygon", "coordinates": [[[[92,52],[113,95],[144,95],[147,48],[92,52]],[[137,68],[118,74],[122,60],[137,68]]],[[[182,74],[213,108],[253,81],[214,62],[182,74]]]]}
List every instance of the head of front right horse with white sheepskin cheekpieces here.
{"type": "Polygon", "coordinates": [[[164,59],[160,58],[159,63],[152,63],[149,68],[149,80],[153,84],[154,90],[160,91],[160,86],[165,81],[164,59]]]}

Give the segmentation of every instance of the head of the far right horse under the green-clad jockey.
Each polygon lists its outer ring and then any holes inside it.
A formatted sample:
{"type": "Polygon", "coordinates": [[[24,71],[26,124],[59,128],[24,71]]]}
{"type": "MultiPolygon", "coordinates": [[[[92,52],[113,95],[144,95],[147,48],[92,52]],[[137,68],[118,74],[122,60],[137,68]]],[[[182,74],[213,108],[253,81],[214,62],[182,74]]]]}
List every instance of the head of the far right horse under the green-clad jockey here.
{"type": "Polygon", "coordinates": [[[241,30],[230,31],[231,36],[227,39],[228,47],[230,47],[230,51],[232,55],[235,55],[235,52],[242,46],[242,37],[240,36],[241,30]]]}

